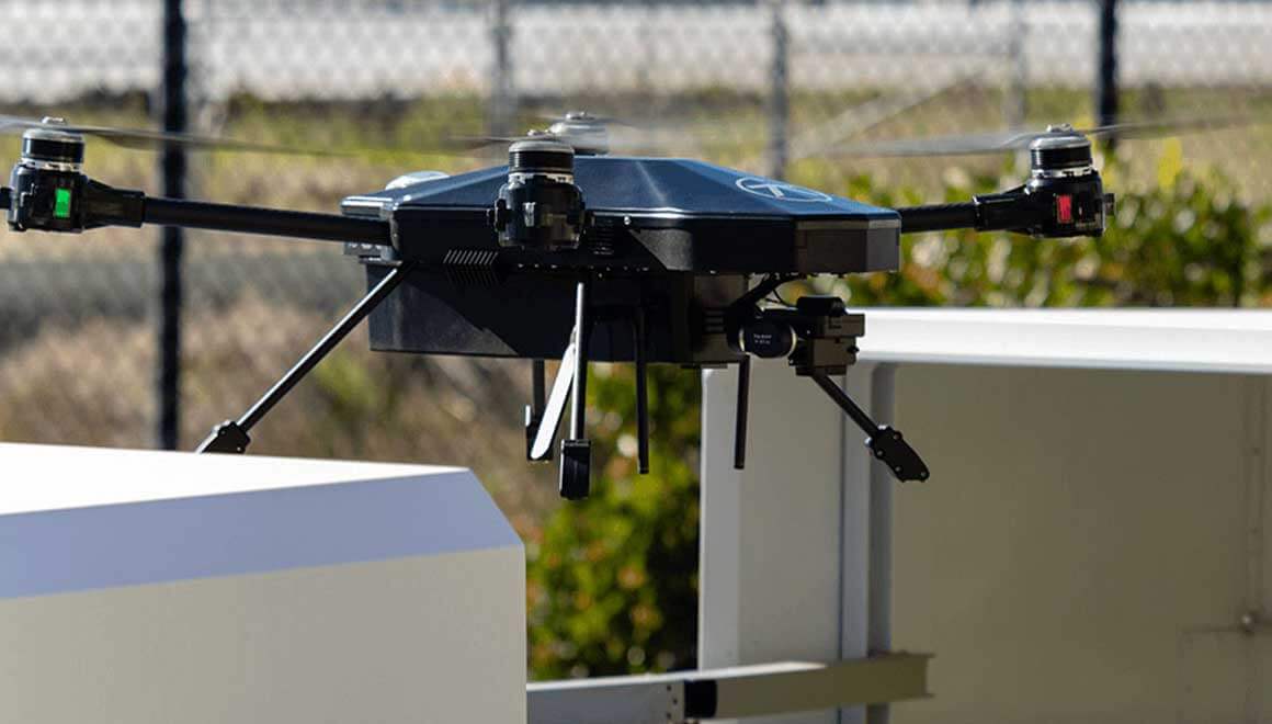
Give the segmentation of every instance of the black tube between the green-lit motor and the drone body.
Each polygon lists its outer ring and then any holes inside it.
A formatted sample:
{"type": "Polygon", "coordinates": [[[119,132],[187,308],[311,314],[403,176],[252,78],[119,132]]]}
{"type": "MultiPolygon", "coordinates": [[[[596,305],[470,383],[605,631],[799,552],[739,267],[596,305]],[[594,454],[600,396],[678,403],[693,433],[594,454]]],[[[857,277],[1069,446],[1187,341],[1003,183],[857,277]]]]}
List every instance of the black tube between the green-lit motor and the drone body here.
{"type": "Polygon", "coordinates": [[[162,226],[186,226],[244,234],[392,244],[388,221],[378,219],[355,219],[340,214],[284,211],[153,196],[145,198],[142,221],[162,226]]]}

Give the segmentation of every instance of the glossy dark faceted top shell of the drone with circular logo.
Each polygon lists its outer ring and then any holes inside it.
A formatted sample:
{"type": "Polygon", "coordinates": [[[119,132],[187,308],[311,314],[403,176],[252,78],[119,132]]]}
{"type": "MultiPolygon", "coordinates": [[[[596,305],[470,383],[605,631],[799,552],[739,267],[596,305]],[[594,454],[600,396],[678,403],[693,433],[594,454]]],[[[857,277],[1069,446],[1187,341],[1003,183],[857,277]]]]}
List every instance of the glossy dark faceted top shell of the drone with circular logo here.
{"type": "Polygon", "coordinates": [[[581,155],[574,173],[594,220],[570,251],[499,246],[488,211],[508,167],[354,196],[342,209],[392,219],[401,257],[434,263],[474,251],[520,268],[612,272],[850,274],[899,261],[890,209],[688,159],[581,155]]]}

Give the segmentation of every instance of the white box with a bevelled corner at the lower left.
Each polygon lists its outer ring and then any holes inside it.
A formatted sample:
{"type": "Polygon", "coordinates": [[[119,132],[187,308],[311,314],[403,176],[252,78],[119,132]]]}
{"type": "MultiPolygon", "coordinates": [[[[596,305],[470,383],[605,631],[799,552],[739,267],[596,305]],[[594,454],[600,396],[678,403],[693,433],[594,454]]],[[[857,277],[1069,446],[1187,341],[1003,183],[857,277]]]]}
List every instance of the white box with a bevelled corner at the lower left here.
{"type": "Polygon", "coordinates": [[[5,721],[525,720],[524,551],[468,471],[0,461],[5,721]]]}

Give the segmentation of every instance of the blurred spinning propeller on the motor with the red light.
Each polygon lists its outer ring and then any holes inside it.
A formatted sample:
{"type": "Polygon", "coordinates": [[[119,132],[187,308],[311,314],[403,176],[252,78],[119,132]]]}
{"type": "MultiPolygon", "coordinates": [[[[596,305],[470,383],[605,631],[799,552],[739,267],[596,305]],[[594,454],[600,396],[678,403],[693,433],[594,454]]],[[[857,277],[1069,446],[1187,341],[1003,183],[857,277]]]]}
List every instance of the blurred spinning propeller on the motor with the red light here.
{"type": "Polygon", "coordinates": [[[1196,118],[1169,118],[1160,121],[1132,121],[1110,123],[1090,129],[1072,126],[1051,126],[1046,131],[1009,130],[954,136],[934,136],[929,139],[908,139],[894,141],[864,141],[838,146],[823,151],[822,157],[939,157],[939,155],[979,155],[1029,149],[1039,139],[1056,136],[1086,136],[1088,139],[1160,139],[1198,131],[1213,131],[1234,126],[1266,122],[1250,116],[1210,116],[1196,118]]]}

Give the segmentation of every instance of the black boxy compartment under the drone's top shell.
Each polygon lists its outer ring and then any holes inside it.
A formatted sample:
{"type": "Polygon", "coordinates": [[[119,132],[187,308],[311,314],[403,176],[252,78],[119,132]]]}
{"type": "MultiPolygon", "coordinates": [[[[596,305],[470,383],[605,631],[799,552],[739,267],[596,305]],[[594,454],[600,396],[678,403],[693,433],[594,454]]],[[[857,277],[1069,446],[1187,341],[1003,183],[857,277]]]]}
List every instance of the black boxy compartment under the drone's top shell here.
{"type": "MultiPolygon", "coordinates": [[[[369,263],[369,284],[391,268],[369,263]]],[[[558,359],[574,328],[575,288],[576,277],[563,274],[516,272],[483,284],[417,267],[371,312],[371,349],[558,359]]],[[[744,290],[742,275],[594,279],[588,358],[633,361],[636,314],[644,314],[647,361],[735,363],[740,355],[725,340],[724,312],[744,290]]]]}

